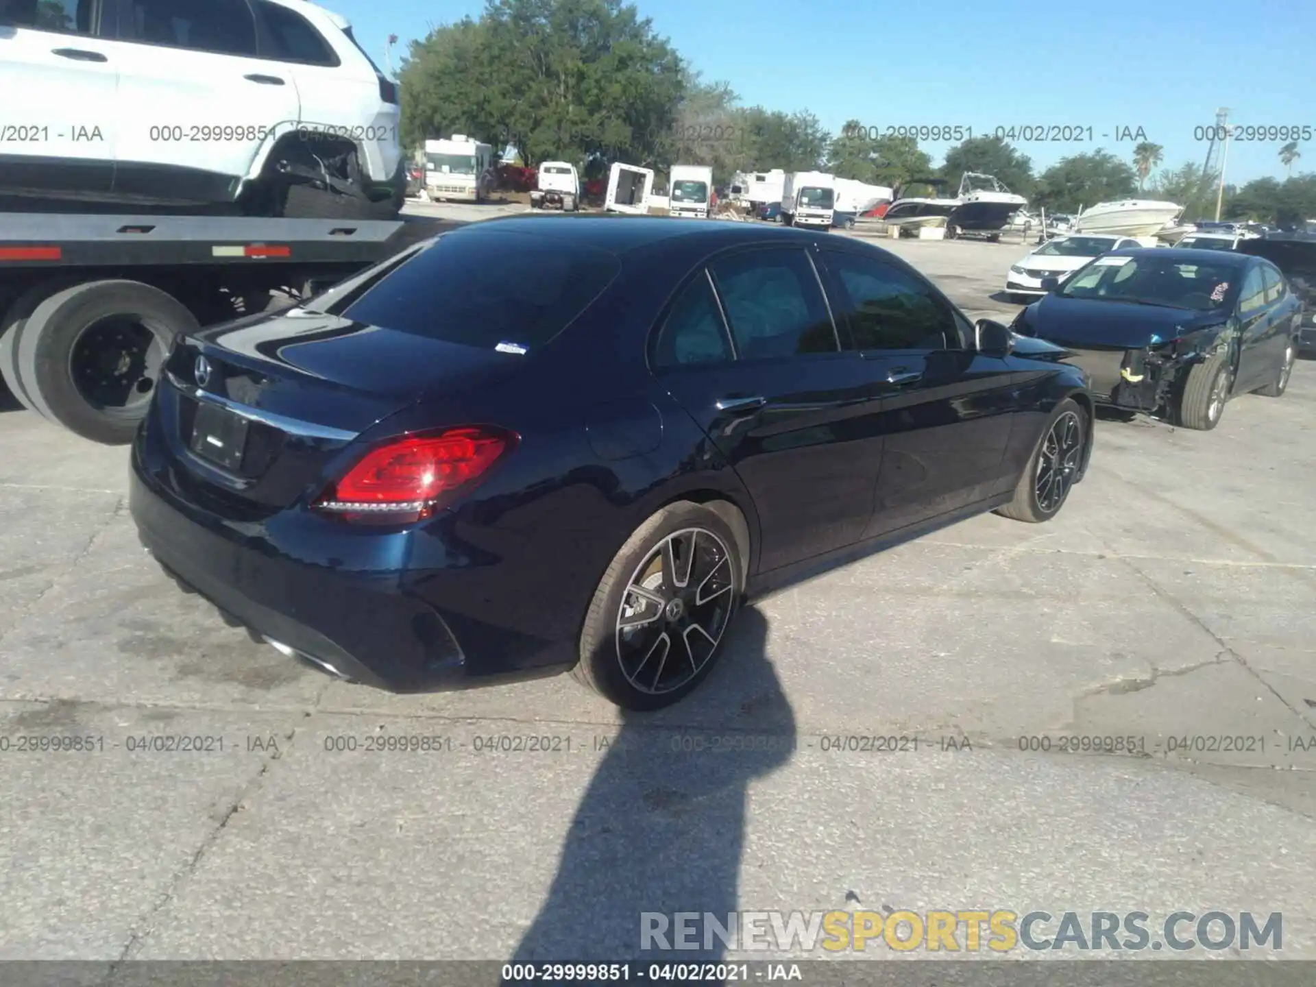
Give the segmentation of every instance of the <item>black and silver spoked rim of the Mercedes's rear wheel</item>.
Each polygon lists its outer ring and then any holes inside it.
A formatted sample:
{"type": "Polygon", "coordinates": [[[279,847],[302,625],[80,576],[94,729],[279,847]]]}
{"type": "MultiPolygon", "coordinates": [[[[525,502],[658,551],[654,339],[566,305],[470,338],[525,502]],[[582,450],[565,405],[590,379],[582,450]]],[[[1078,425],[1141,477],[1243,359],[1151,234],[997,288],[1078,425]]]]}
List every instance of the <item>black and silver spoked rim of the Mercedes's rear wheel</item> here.
{"type": "Polygon", "coordinates": [[[703,528],[663,538],[636,567],[617,609],[617,662],[640,692],[691,682],[717,650],[736,603],[728,546],[703,528]]]}

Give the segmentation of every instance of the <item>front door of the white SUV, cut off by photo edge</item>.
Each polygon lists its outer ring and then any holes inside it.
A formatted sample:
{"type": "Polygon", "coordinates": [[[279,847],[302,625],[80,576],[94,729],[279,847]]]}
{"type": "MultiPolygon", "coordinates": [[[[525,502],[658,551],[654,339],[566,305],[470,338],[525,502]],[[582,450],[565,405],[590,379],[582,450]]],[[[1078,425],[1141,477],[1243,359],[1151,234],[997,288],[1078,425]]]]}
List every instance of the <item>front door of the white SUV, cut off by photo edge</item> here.
{"type": "Polygon", "coordinates": [[[0,190],[109,191],[116,11],[114,0],[0,0],[0,190]]]}

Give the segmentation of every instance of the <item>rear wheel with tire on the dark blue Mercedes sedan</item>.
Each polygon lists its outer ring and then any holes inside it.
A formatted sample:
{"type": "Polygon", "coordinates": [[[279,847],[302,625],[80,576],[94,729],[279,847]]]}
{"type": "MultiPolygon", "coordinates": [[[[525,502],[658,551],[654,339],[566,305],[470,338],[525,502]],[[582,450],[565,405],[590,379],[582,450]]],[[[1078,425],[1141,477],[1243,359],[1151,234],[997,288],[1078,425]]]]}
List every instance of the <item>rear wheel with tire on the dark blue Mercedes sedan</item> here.
{"type": "Polygon", "coordinates": [[[741,603],[745,565],[738,544],[716,511],[690,501],[670,504],[641,524],[599,582],[572,675],[622,709],[662,709],[692,692],[721,655],[741,603]],[[692,562],[686,565],[686,558],[692,562]],[[676,578],[683,565],[682,584],[676,578]],[[653,616],[644,619],[646,611],[653,616]],[[624,629],[628,617],[632,626],[624,629]],[[669,667],[669,659],[679,663],[669,667]]]}

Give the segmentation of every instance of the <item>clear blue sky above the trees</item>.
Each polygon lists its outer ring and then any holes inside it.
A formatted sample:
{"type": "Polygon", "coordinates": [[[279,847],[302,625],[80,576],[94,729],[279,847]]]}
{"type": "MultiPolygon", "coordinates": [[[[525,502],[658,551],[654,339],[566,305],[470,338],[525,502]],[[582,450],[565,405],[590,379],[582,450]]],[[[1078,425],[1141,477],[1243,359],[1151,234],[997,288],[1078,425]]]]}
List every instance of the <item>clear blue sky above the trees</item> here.
{"type": "MultiPolygon", "coordinates": [[[[397,34],[478,16],[482,0],[320,0],[347,17],[383,64],[397,34]]],[[[1123,128],[1165,146],[1163,167],[1202,163],[1194,128],[1219,107],[1241,125],[1311,126],[1316,137],[1316,3],[1312,0],[645,0],[658,33],[705,79],[745,104],[809,109],[833,132],[865,125],[950,125],[974,133],[1045,125],[1080,142],[1017,141],[1036,171],[1104,147],[1128,159],[1123,128]],[[1092,139],[1087,139],[1087,129],[1092,139]]],[[[1246,134],[1245,134],[1246,136],[1246,134]]],[[[1228,180],[1283,178],[1283,141],[1230,142],[1228,180]]],[[[921,142],[934,163],[949,146],[921,142]]],[[[1316,171],[1316,141],[1295,174],[1316,171]]]]}

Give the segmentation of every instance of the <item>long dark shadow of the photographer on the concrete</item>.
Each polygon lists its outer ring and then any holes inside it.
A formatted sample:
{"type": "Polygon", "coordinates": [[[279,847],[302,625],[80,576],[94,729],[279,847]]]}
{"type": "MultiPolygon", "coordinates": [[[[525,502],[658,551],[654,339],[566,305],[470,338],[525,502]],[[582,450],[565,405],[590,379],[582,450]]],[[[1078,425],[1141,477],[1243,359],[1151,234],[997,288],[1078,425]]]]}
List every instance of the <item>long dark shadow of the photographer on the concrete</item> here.
{"type": "Polygon", "coordinates": [[[767,622],[737,616],[726,650],[692,695],[626,713],[562,848],[558,873],[512,962],[711,962],[725,946],[696,924],[676,949],[674,913],[738,907],[751,780],[786,763],[795,717],[765,654],[767,622]],[[642,921],[644,913],[666,920],[642,921]],[[665,934],[642,942],[645,928],[665,934]]]}

